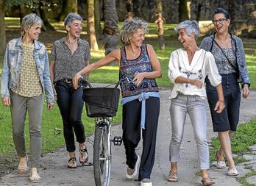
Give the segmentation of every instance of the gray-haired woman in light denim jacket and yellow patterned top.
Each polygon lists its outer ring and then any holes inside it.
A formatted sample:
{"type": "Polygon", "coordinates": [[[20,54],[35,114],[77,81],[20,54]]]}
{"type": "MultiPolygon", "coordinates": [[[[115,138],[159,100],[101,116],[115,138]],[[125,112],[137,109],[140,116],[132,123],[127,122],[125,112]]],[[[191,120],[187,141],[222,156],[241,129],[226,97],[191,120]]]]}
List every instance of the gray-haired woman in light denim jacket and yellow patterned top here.
{"type": "Polygon", "coordinates": [[[21,23],[21,37],[10,40],[4,55],[1,78],[1,101],[10,106],[13,140],[18,157],[18,174],[25,174],[28,156],[25,148],[24,125],[29,112],[30,182],[40,182],[38,166],[42,147],[41,120],[43,93],[47,109],[54,106],[46,47],[38,42],[43,21],[35,14],[26,15],[21,23]]]}

